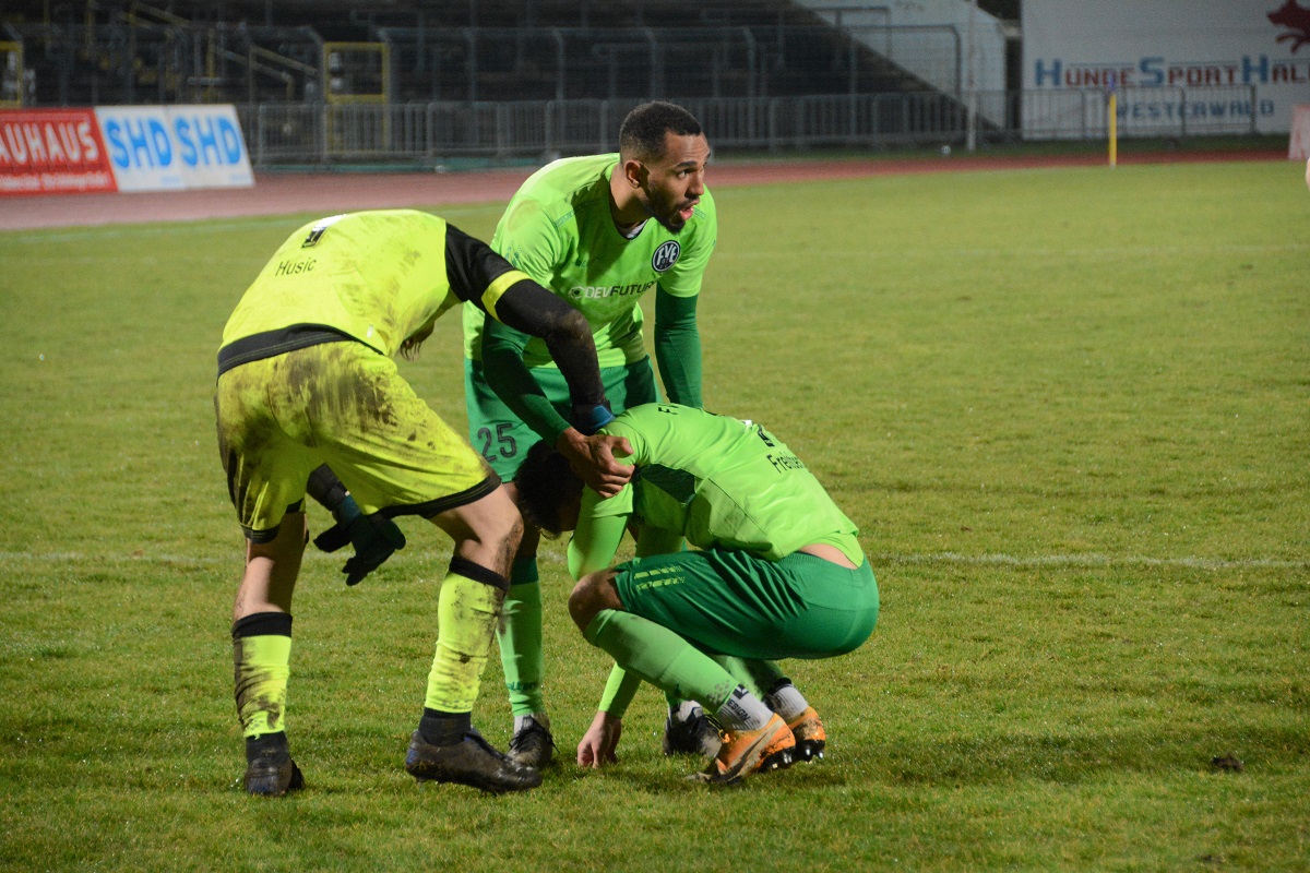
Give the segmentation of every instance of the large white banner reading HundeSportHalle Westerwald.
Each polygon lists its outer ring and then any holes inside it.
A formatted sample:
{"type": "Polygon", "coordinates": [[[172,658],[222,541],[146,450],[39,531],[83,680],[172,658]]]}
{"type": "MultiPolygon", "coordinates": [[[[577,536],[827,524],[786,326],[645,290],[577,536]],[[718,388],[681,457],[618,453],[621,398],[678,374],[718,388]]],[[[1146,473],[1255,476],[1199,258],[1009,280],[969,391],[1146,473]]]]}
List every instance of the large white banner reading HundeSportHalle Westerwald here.
{"type": "MultiPolygon", "coordinates": [[[[1310,0],[1307,0],[1310,1],[1310,0]]],[[[1024,0],[1024,136],[1062,136],[1045,107],[1116,93],[1121,136],[1285,134],[1310,99],[1310,5],[1297,0],[1024,0]]]]}

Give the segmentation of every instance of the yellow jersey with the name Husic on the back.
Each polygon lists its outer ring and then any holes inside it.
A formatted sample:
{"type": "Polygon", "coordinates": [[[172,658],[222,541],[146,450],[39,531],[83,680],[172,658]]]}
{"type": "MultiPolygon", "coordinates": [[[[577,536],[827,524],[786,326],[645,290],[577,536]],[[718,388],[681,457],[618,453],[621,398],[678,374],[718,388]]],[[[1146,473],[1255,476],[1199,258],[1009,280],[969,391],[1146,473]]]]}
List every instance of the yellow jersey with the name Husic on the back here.
{"type": "Polygon", "coordinates": [[[246,291],[223,344],[299,325],[335,329],[393,356],[460,302],[445,263],[445,221],[410,209],[354,212],[291,234],[246,291]]]}

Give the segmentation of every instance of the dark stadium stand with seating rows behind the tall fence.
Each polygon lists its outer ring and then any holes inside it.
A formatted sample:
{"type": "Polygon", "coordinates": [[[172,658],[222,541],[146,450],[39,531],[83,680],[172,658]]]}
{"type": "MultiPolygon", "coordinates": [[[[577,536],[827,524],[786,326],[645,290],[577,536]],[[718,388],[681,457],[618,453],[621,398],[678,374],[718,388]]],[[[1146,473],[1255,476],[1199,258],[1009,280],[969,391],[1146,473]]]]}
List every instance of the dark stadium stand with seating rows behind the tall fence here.
{"type": "Polygon", "coordinates": [[[22,46],[37,106],[933,90],[781,0],[18,1],[0,41],[22,46]],[[385,67],[346,56],[360,46],[385,67]]]}

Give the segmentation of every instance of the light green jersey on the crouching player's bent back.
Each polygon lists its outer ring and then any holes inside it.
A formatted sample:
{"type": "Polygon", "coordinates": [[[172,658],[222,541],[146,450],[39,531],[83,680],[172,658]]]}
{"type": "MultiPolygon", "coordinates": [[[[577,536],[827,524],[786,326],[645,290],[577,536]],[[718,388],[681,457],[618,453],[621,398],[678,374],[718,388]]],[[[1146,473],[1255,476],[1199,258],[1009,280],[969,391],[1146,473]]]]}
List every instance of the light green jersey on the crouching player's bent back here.
{"type": "MultiPolygon", "coordinates": [[[[697,548],[739,548],[779,560],[803,546],[827,543],[859,565],[859,530],[806,465],[753,421],[672,403],[627,410],[601,433],[626,437],[637,466],[631,483],[609,500],[583,491],[570,544],[595,554],[610,548],[614,518],[680,534],[697,548]],[[608,531],[608,533],[607,533],[608,531]]],[[[617,548],[613,542],[609,554],[617,548]]],[[[593,563],[593,561],[590,561],[593,563]]]]}

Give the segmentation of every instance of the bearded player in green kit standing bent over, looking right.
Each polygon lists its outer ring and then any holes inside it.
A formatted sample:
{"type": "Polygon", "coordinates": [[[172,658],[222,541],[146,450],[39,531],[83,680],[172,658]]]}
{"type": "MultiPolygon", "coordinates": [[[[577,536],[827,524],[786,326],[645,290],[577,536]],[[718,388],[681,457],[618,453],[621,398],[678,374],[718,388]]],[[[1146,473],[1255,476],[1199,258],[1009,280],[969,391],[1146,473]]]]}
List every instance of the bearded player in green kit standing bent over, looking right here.
{"type": "MultiPolygon", "coordinates": [[[[718,225],[705,187],[710,145],[680,106],[645,103],[624,120],[617,154],[555,161],[529,177],[491,246],[587,317],[610,408],[660,399],[643,339],[641,297],[654,291],[654,348],[664,391],[701,406],[696,304],[718,225]]],[[[537,440],[554,442],[570,411],[549,349],[465,306],[465,402],[474,448],[504,479],[537,440]],[[516,395],[531,373],[537,390],[516,395]]],[[[603,424],[597,420],[595,424],[603,424]]],[[[515,716],[510,755],[541,767],[553,755],[542,700],[537,531],[524,531],[500,635],[515,716]]],[[[669,700],[665,751],[714,754],[717,734],[700,708],[669,700]]]]}

